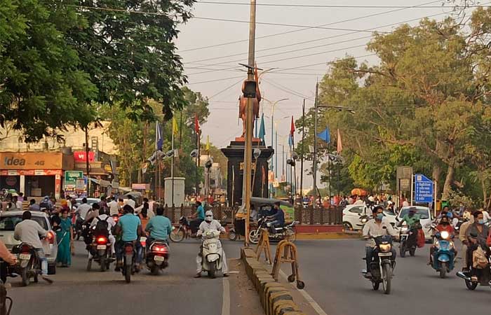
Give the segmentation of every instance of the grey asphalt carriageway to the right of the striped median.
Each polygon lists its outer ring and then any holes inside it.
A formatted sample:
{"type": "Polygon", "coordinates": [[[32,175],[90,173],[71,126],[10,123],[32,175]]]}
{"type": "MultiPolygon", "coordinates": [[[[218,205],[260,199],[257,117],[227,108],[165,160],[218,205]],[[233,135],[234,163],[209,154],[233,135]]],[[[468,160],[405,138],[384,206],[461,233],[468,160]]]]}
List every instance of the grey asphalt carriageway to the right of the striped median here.
{"type": "MultiPolygon", "coordinates": [[[[297,241],[297,246],[305,290],[328,315],[489,312],[491,289],[478,286],[475,291],[468,290],[464,280],[455,275],[462,267],[460,260],[447,279],[440,279],[426,265],[429,245],[417,250],[415,257],[397,258],[390,295],[372,290],[370,281],[361,275],[365,268],[363,241],[297,241]]],[[[283,270],[289,274],[287,268],[283,270]]]]}

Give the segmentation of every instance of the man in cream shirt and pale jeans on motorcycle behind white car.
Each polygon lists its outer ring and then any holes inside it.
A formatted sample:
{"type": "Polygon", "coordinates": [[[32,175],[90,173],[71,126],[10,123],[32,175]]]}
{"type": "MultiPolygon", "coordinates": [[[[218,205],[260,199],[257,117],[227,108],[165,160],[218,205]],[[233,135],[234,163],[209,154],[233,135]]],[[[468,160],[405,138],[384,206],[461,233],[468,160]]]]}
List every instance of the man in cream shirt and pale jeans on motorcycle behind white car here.
{"type": "Polygon", "coordinates": [[[48,260],[44,255],[43,244],[39,237],[47,237],[48,231],[41,228],[41,225],[34,220],[31,220],[32,214],[30,211],[24,211],[22,214],[22,222],[15,225],[15,230],[13,232],[13,238],[22,243],[27,243],[34,247],[37,254],[39,255],[39,260],[41,260],[41,276],[44,281],[48,283],[53,283],[53,280],[49,279],[48,276],[48,260]]]}

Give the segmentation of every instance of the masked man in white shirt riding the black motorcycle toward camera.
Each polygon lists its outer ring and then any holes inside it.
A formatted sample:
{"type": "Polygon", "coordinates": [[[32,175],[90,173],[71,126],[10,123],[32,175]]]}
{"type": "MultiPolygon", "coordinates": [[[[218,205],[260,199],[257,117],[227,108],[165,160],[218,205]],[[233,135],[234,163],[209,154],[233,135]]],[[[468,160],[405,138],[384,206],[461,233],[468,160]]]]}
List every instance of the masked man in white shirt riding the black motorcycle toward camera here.
{"type": "MultiPolygon", "coordinates": [[[[367,262],[367,276],[371,276],[370,262],[372,262],[373,252],[375,250],[375,237],[382,235],[391,235],[395,239],[398,239],[399,235],[390,223],[382,221],[384,218],[384,208],[382,206],[376,206],[372,209],[373,218],[370,219],[365,226],[363,226],[363,238],[367,239],[365,244],[365,255],[367,262]]],[[[391,248],[392,257],[391,260],[396,260],[396,249],[394,246],[391,248]]]]}

